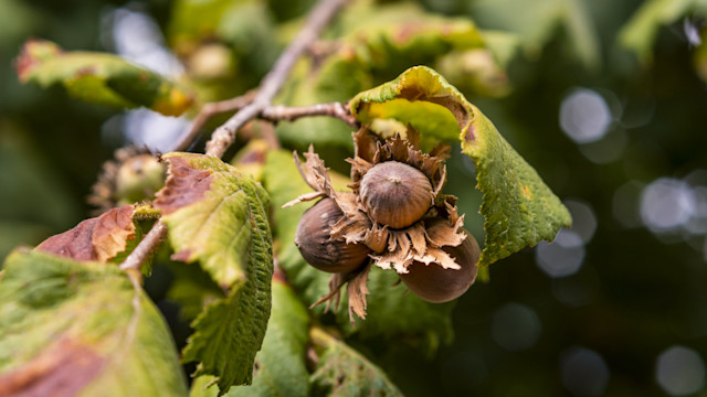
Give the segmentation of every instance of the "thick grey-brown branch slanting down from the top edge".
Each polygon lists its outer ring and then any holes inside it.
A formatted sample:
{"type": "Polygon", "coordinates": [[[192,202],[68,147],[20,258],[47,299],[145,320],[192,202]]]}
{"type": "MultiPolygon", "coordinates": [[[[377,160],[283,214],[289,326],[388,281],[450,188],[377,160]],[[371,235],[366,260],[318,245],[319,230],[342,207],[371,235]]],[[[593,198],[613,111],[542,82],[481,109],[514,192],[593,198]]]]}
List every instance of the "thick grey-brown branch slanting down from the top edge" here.
{"type": "Polygon", "coordinates": [[[307,46],[314,42],[334,15],[339,11],[347,0],[323,0],[309,13],[304,26],[295,39],[283,52],[270,73],[263,78],[257,95],[253,101],[241,111],[231,117],[221,127],[217,128],[207,142],[207,154],[220,158],[235,140],[235,132],[245,122],[257,117],[266,107],[271,105],[275,95],[279,92],[289,71],[295,65],[299,55],[307,46]]]}

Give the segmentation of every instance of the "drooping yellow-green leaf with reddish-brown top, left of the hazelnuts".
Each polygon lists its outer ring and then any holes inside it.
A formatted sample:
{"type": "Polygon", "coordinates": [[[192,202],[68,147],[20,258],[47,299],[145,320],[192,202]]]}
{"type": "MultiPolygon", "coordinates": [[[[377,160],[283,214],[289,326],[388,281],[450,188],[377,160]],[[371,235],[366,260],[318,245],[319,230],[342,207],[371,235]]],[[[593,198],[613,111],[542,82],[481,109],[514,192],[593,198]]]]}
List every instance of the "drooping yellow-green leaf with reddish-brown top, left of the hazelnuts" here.
{"type": "MultiPolygon", "coordinates": [[[[221,393],[252,382],[271,309],[270,198],[250,176],[203,154],[167,153],[169,178],[155,206],[169,228],[173,258],[198,261],[228,296],[205,308],[182,361],[219,377],[221,393]]],[[[192,266],[192,265],[184,265],[192,266]]]]}

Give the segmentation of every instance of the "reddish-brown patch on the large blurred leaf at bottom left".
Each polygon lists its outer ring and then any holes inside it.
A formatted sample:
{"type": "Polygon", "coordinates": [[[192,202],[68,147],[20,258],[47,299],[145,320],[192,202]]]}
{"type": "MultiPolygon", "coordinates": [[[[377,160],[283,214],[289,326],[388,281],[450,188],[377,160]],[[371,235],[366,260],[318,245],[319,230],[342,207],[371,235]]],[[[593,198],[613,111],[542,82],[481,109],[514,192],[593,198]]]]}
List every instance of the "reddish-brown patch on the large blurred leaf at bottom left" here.
{"type": "Polygon", "coordinates": [[[32,361],[0,376],[0,396],[75,396],[101,374],[105,362],[87,345],[62,337],[32,361]]]}

